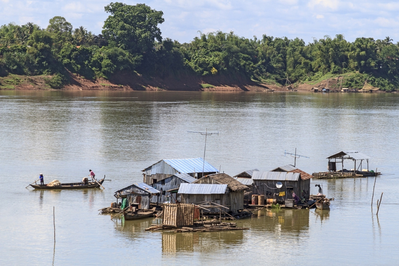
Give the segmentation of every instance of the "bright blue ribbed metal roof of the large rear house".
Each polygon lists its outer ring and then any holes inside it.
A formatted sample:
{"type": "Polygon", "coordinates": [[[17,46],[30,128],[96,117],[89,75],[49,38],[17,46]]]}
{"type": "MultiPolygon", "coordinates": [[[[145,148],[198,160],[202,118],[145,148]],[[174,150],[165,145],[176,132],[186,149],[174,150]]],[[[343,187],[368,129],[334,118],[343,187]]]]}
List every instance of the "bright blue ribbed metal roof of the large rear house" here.
{"type": "Polygon", "coordinates": [[[205,173],[219,172],[218,169],[211,166],[207,161],[202,158],[190,158],[190,159],[165,159],[164,162],[172,166],[180,173],[201,173],[202,167],[205,173]]]}

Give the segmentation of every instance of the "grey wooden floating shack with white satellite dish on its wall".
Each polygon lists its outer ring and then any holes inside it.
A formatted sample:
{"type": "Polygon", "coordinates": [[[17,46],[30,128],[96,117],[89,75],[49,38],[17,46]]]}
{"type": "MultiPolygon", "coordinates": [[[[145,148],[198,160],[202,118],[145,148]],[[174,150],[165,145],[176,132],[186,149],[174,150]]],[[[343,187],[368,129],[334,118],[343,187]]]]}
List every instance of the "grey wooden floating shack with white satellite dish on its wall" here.
{"type": "Polygon", "coordinates": [[[310,179],[301,178],[301,173],[258,171],[252,175],[255,195],[265,195],[265,199],[276,199],[277,203],[284,203],[286,199],[292,199],[294,192],[301,199],[309,199],[310,179]],[[278,188],[277,182],[282,186],[278,188]]]}

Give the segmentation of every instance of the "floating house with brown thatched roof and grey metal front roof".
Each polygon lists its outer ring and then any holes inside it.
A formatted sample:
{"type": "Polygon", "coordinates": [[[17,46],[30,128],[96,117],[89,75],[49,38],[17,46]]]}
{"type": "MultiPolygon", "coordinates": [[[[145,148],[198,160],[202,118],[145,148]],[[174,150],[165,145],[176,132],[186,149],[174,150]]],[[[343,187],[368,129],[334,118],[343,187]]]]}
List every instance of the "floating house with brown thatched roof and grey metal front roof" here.
{"type": "MultiPolygon", "coordinates": [[[[247,189],[246,185],[233,177],[225,173],[217,173],[204,176],[191,184],[181,184],[178,193],[182,203],[201,204],[204,201],[213,201],[237,213],[238,210],[244,208],[244,191],[247,189]]],[[[216,208],[212,209],[211,212],[218,211],[216,208]]]]}

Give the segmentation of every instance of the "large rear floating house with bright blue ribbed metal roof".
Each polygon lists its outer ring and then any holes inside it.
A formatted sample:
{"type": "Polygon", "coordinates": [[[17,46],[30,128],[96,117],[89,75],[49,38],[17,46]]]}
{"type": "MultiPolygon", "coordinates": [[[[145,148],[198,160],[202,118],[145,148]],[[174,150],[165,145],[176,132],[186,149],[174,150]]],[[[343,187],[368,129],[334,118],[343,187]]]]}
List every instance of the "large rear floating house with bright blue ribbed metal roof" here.
{"type": "Polygon", "coordinates": [[[202,158],[190,158],[160,160],[142,171],[144,172],[143,181],[153,184],[175,173],[187,173],[192,177],[200,178],[203,175],[217,173],[219,170],[202,158]]]}

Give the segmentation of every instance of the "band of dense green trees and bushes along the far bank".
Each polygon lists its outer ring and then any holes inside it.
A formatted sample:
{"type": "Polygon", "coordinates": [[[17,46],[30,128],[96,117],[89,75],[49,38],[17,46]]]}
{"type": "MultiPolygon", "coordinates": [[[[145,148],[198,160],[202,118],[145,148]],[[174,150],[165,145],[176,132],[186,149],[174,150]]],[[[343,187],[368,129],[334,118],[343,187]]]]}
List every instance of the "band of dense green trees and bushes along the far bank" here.
{"type": "MultiPolygon", "coordinates": [[[[162,11],[145,4],[120,2],[105,6],[109,13],[99,35],[73,26],[61,16],[46,29],[27,23],[0,27],[0,77],[51,75],[51,88],[68,83],[67,71],[87,79],[114,75],[181,78],[223,77],[283,85],[315,84],[344,77],[343,87],[361,88],[363,82],[386,91],[399,87],[399,43],[343,35],[324,36],[306,44],[302,39],[239,37],[233,32],[201,33],[190,43],[162,38],[162,11]]],[[[2,87],[12,86],[12,84],[2,87]]],[[[201,84],[203,88],[213,87],[201,84]]]]}

